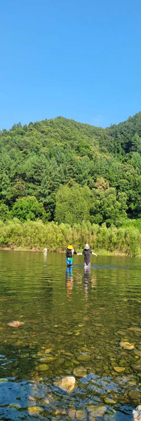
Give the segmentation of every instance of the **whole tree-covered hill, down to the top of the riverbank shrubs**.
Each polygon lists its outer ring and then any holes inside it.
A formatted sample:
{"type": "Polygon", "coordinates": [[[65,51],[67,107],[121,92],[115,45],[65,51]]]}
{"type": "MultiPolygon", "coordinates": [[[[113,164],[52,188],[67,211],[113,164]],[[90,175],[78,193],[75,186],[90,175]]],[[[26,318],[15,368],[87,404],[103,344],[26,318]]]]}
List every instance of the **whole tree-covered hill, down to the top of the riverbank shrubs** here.
{"type": "Polygon", "coordinates": [[[0,132],[0,219],[127,216],[141,217],[141,112],[105,129],[57,117],[0,132]]]}

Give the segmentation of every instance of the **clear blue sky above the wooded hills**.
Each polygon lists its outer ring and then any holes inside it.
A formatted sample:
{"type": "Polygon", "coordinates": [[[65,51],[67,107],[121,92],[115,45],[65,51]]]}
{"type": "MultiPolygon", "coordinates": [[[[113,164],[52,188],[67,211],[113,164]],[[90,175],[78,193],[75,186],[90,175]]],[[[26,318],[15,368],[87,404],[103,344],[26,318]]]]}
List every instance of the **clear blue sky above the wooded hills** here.
{"type": "Polygon", "coordinates": [[[0,2],[0,129],[141,111],[140,0],[0,2]]]}

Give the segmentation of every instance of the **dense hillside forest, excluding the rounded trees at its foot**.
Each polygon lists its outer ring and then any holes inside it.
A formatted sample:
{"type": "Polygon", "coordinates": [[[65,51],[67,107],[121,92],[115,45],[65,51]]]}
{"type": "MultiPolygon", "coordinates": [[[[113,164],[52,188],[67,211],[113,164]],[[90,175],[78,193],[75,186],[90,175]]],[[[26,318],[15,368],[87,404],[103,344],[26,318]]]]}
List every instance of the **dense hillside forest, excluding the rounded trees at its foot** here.
{"type": "MultiPolygon", "coordinates": [[[[123,193],[127,196],[123,211],[129,218],[138,218],[141,112],[106,129],[57,117],[23,127],[18,123],[9,131],[0,131],[0,200],[10,211],[17,199],[35,196],[49,219],[54,220],[56,194],[70,179],[80,187],[89,187],[91,195],[96,187],[106,192],[109,184],[115,189],[120,214],[119,193],[123,193]]],[[[91,215],[99,223],[109,219],[103,208],[100,200],[97,213],[91,215]]]]}

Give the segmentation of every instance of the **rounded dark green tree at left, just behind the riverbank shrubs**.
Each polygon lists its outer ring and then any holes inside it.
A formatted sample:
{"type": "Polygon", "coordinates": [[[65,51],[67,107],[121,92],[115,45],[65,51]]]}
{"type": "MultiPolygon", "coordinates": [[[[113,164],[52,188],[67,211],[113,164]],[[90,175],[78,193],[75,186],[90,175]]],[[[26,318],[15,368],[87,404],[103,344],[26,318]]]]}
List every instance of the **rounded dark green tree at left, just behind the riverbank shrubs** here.
{"type": "Polygon", "coordinates": [[[22,197],[17,200],[13,205],[11,215],[18,218],[21,222],[27,220],[35,221],[37,218],[40,218],[43,221],[47,219],[43,204],[39,203],[34,196],[22,197]]]}

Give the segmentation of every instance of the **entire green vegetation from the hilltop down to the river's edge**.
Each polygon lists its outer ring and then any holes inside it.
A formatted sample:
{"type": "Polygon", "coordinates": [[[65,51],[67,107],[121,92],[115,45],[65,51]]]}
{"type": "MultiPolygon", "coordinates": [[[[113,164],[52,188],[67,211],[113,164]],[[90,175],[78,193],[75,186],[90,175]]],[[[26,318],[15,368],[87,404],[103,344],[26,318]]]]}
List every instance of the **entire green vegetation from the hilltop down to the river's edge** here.
{"type": "Polygon", "coordinates": [[[140,218],[141,112],[105,129],[57,117],[0,132],[1,247],[63,250],[72,235],[136,254],[140,218]]]}

